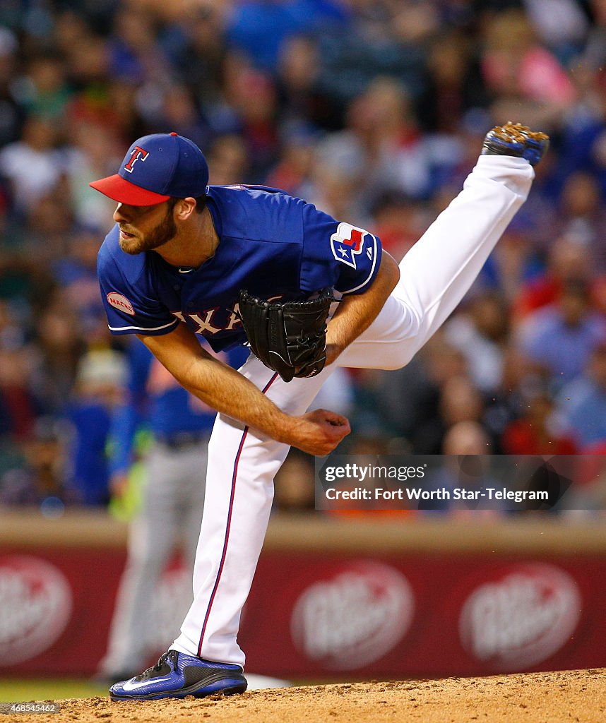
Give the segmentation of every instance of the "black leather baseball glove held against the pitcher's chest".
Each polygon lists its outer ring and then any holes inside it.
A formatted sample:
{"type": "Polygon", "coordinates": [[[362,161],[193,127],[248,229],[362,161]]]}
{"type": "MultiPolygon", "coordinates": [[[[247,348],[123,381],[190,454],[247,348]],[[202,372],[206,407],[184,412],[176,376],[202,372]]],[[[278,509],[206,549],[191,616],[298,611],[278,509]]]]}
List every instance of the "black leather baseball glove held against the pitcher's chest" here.
{"type": "Polygon", "coordinates": [[[263,301],[240,291],[239,317],[252,353],[285,382],[314,377],[326,361],[326,320],[333,294],[311,301],[263,301]]]}

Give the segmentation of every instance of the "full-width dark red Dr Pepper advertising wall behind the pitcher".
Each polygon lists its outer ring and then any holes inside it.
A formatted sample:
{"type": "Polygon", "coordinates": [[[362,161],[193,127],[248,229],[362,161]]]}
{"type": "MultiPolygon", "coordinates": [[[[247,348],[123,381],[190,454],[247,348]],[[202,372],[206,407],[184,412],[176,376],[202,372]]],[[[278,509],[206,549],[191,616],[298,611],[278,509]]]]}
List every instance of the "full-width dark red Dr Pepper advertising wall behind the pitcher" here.
{"type": "MultiPolygon", "coordinates": [[[[383,524],[376,544],[368,529],[356,542],[363,528],[354,523],[329,523],[324,541],[302,523],[290,536],[288,526],[270,530],[239,638],[250,672],[317,680],[606,665],[598,528],[583,549],[579,534],[563,529],[568,552],[516,552],[511,528],[493,551],[485,541],[481,550],[462,544],[448,524],[442,549],[411,544],[414,525],[404,540],[401,525],[390,526],[395,537],[383,524]],[[305,546],[306,534],[315,542],[305,546]]],[[[8,544],[0,535],[1,675],[93,675],[105,652],[124,547],[65,543],[8,544]]],[[[174,560],[150,603],[153,655],[176,634],[189,586],[174,560]]]]}

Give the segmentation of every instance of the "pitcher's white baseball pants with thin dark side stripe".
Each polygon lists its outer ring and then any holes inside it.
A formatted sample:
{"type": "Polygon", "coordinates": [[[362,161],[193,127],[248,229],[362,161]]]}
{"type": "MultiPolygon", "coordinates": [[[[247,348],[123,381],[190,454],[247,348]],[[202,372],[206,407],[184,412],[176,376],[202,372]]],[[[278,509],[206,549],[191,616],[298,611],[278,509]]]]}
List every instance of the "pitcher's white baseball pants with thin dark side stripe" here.
{"type": "MultiPolygon", "coordinates": [[[[521,158],[482,155],[464,189],[400,263],[401,279],[372,325],[336,364],[398,369],[451,315],[530,190],[521,158]]],[[[240,372],[278,407],[303,414],[334,365],[288,384],[251,356],[240,372]]],[[[236,635],[255,574],[287,445],[218,415],[208,447],[194,602],[173,649],[244,665],[236,635]]]]}

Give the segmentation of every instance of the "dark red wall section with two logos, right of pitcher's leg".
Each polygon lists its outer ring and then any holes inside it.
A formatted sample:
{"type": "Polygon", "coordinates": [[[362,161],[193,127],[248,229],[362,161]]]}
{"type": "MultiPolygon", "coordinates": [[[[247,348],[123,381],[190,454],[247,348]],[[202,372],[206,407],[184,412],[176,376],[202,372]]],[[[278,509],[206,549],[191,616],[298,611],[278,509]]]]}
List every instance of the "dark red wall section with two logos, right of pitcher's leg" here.
{"type": "Polygon", "coordinates": [[[242,646],[251,669],[299,678],[599,667],[605,564],[273,553],[260,563],[242,646]]]}

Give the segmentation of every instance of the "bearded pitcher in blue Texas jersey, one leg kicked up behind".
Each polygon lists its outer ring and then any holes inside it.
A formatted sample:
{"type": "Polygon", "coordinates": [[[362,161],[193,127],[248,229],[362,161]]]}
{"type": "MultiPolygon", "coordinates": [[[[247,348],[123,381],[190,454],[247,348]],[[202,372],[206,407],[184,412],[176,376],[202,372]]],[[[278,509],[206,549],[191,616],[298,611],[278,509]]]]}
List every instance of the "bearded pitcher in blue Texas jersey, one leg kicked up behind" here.
{"type": "Polygon", "coordinates": [[[218,411],[194,602],[171,649],[113,685],[114,700],[246,689],[236,636],[273,477],[289,445],[325,455],[349,433],[343,416],[308,406],[338,366],[398,369],[412,359],[521,207],[547,143],[518,124],[492,129],[461,193],[399,266],[372,231],[304,200],[208,186],[204,155],[176,133],[140,138],[116,175],[90,184],[117,202],[98,258],[109,328],[138,335],[218,411]],[[252,353],[236,371],[196,335],[215,351],[249,343],[252,353]]]}

